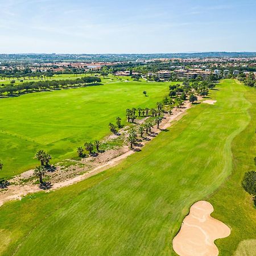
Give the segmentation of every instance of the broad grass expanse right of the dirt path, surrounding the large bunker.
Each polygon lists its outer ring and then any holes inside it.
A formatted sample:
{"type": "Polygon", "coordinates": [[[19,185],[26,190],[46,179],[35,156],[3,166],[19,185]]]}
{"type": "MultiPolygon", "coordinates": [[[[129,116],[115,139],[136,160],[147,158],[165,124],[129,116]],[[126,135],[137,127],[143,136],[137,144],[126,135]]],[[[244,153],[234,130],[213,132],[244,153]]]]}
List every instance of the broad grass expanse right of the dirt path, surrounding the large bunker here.
{"type": "Polygon", "coordinates": [[[221,255],[232,255],[238,242],[255,230],[255,218],[250,215],[255,209],[237,183],[236,159],[245,165],[251,158],[244,153],[246,149],[252,152],[252,134],[247,129],[255,129],[251,111],[256,98],[253,89],[232,80],[223,81],[217,88],[220,90],[211,94],[216,105],[200,104],[190,109],[142,152],[117,167],[70,187],[3,205],[0,253],[174,255],[172,238],[189,207],[213,195],[214,216],[236,233],[218,241],[221,255]],[[237,143],[238,138],[245,137],[237,143]],[[236,147],[232,164],[231,149],[236,147]],[[224,182],[227,178],[231,185],[224,182]],[[213,192],[220,186],[226,190],[217,197],[221,190],[213,192]],[[238,188],[238,192],[233,191],[238,188]],[[232,207],[240,211],[233,212],[232,207]],[[235,228],[240,224],[228,221],[240,221],[237,217],[243,219],[245,229],[235,228]],[[232,236],[234,242],[230,242],[232,236]]]}

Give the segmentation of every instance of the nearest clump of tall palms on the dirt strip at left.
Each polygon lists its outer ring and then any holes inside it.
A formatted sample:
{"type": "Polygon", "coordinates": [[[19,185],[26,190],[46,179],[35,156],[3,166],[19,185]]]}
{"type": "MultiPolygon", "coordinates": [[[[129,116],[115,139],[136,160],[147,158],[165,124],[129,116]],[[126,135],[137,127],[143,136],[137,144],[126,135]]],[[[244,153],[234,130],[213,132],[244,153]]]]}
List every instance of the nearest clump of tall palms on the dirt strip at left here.
{"type": "Polygon", "coordinates": [[[36,166],[34,170],[34,175],[39,177],[40,184],[44,185],[43,176],[47,172],[47,168],[49,167],[49,161],[52,159],[51,155],[47,154],[44,150],[38,150],[34,156],[35,159],[40,161],[41,165],[36,166]]]}

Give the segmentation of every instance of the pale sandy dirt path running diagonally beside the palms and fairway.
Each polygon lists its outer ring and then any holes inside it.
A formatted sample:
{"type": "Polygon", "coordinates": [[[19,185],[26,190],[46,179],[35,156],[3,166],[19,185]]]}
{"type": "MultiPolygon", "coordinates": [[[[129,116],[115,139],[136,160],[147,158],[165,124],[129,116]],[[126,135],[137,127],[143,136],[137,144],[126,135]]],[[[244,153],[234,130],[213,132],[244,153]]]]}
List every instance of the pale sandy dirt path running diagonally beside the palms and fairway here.
{"type": "MultiPolygon", "coordinates": [[[[157,129],[157,127],[154,126],[152,129],[152,134],[157,135],[158,133],[161,132],[161,130],[165,130],[168,127],[170,127],[172,124],[171,122],[180,119],[185,114],[186,110],[191,108],[191,106],[192,106],[191,103],[186,101],[186,102],[184,102],[183,108],[175,109],[172,112],[172,115],[165,114],[164,119],[159,126],[160,129],[157,129]]],[[[148,138],[149,138],[149,140],[144,140],[141,142],[142,146],[144,146],[144,144],[148,143],[148,141],[151,141],[151,139],[154,139],[154,137],[148,137],[148,138]]],[[[59,181],[57,183],[54,183],[54,184],[52,184],[51,188],[47,189],[47,191],[62,188],[62,187],[68,186],[68,185],[75,184],[79,181],[88,179],[88,177],[96,175],[102,171],[105,171],[106,169],[108,169],[110,167],[117,165],[119,162],[121,162],[121,160],[127,158],[127,156],[134,154],[137,151],[137,149],[139,149],[139,148],[135,148],[135,150],[129,149],[124,154],[117,156],[113,159],[110,159],[106,163],[99,164],[98,166],[94,167],[93,170],[88,171],[85,174],[78,175],[78,176],[72,177],[71,179],[67,179],[64,181],[59,181]]],[[[32,175],[32,172],[33,172],[33,170],[29,170],[29,171],[24,172],[20,176],[21,177],[30,177],[32,175]]],[[[29,184],[29,185],[26,185],[26,184],[25,185],[9,185],[7,187],[7,189],[3,189],[0,192],[0,207],[6,201],[20,200],[20,199],[22,199],[23,196],[26,196],[28,193],[35,193],[35,192],[39,192],[39,191],[42,191],[42,189],[39,187],[39,185],[31,185],[31,184],[29,184]]]]}

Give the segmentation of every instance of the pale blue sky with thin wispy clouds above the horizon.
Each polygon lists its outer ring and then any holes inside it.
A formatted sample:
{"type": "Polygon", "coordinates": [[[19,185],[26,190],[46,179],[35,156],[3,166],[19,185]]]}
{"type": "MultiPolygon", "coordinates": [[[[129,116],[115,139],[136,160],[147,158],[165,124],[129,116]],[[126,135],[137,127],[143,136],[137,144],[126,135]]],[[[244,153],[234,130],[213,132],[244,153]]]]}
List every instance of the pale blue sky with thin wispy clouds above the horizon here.
{"type": "Polygon", "coordinates": [[[255,0],[0,0],[0,53],[256,51],[255,13],[255,0]]]}

